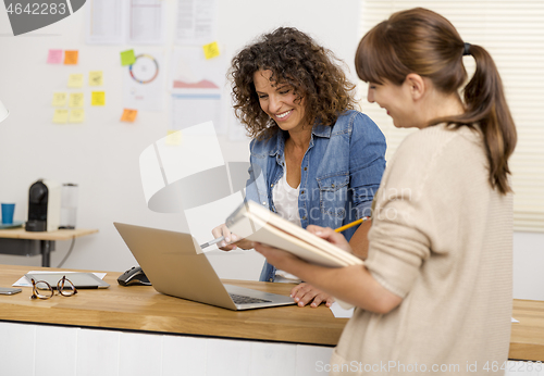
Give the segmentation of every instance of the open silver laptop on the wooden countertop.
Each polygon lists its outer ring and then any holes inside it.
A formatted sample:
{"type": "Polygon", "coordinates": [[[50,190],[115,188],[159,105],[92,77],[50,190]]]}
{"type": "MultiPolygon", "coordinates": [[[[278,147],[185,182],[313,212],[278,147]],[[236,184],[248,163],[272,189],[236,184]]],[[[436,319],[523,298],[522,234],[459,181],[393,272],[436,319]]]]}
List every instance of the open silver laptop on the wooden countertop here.
{"type": "Polygon", "coordinates": [[[190,234],[113,225],[158,292],[234,311],[295,304],[290,297],[223,285],[190,234]]]}

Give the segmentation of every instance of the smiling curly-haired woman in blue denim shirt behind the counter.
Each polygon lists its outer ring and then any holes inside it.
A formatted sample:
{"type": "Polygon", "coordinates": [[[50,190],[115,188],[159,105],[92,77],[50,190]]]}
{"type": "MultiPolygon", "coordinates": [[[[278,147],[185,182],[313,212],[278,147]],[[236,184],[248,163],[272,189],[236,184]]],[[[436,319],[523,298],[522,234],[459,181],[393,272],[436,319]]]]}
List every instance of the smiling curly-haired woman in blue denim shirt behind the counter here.
{"type": "MultiPolygon", "coordinates": [[[[247,199],[304,228],[336,228],[370,215],[385,168],[385,138],[355,111],[355,86],[330,50],[281,27],[235,55],[230,76],[236,116],[254,137],[247,199]]],[[[369,224],[344,233],[362,258],[369,224]]],[[[226,245],[238,239],[224,225],[212,234],[225,237],[222,250],[250,248],[245,240],[226,245]]],[[[300,281],[268,263],[260,280],[300,281]]],[[[295,287],[292,297],[300,306],[333,302],[308,284],[295,287]]]]}

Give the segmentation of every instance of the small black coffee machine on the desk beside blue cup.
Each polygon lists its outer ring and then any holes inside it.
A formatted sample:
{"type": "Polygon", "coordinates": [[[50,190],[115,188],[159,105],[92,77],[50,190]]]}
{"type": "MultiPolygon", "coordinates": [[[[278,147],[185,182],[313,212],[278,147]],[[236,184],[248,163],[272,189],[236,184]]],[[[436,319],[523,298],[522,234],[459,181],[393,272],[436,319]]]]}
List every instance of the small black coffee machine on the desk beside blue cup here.
{"type": "Polygon", "coordinates": [[[27,231],[54,231],[59,229],[61,217],[61,185],[39,179],[28,192],[27,231]]]}

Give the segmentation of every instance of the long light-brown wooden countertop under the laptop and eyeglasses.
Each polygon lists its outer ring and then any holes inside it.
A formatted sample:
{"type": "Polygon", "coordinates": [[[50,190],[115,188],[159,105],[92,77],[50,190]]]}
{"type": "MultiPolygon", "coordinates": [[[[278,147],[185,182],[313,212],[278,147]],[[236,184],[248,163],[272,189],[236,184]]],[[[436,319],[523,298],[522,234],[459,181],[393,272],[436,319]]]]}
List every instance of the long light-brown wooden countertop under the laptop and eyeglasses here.
{"type": "MultiPolygon", "coordinates": [[[[0,286],[11,286],[29,270],[0,265],[0,286]]],[[[320,346],[335,346],[347,323],[335,318],[324,305],[230,311],[168,297],[149,286],[122,287],[116,281],[119,275],[107,274],[108,289],[79,290],[70,298],[30,300],[30,288],[23,287],[22,293],[0,296],[0,319],[320,346]]],[[[225,283],[282,294],[292,288],[288,284],[225,283]]],[[[514,300],[512,317],[519,323],[512,324],[509,358],[544,361],[544,302],[514,300]]]]}

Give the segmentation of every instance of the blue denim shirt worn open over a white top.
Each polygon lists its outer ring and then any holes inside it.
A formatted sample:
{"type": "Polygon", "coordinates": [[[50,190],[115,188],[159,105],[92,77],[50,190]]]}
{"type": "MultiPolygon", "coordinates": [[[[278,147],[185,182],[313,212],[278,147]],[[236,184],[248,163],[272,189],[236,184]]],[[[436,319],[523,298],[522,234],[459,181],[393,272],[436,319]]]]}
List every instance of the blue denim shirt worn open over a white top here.
{"type": "MultiPolygon", "coordinates": [[[[272,189],[285,174],[287,131],[250,143],[246,200],[276,212],[272,189]]],[[[367,115],[346,111],[333,126],[316,124],[300,165],[298,212],[308,225],[337,228],[370,215],[385,168],[385,137],[367,115]]],[[[347,240],[357,227],[344,231],[347,240]]],[[[259,280],[273,281],[275,267],[264,263],[259,280]]]]}

